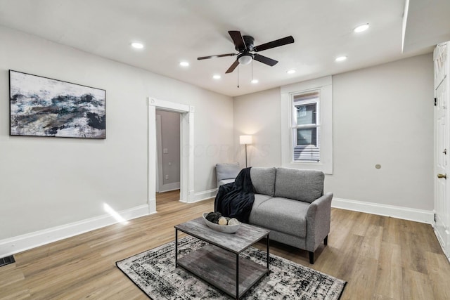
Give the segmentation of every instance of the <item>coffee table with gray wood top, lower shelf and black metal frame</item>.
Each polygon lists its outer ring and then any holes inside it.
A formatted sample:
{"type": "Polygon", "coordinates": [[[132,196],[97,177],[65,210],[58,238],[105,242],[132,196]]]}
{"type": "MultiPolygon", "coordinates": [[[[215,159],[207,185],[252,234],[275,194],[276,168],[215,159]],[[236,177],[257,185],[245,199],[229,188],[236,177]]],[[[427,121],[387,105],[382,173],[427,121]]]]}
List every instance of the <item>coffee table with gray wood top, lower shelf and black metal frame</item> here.
{"type": "Polygon", "coordinates": [[[236,233],[221,233],[203,217],[175,226],[175,266],[181,266],[230,296],[239,299],[264,275],[269,275],[269,230],[242,223],[236,233]],[[207,242],[205,247],[178,258],[178,230],[207,242]],[[266,237],[266,266],[239,259],[239,254],[266,237]]]}

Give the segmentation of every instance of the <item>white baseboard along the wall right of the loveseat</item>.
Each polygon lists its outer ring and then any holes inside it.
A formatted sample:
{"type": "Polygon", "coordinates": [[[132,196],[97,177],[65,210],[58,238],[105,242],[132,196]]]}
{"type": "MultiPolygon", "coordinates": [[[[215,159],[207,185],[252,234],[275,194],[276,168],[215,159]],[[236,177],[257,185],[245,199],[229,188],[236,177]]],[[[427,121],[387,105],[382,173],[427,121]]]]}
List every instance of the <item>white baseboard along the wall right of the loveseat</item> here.
{"type": "Polygon", "coordinates": [[[338,209],[348,209],[352,211],[361,211],[368,214],[378,214],[380,216],[392,216],[397,219],[416,221],[420,223],[432,224],[435,216],[433,211],[423,209],[411,209],[409,207],[397,207],[388,204],[379,204],[373,202],[363,202],[356,200],[347,200],[333,198],[331,207],[338,209]]]}

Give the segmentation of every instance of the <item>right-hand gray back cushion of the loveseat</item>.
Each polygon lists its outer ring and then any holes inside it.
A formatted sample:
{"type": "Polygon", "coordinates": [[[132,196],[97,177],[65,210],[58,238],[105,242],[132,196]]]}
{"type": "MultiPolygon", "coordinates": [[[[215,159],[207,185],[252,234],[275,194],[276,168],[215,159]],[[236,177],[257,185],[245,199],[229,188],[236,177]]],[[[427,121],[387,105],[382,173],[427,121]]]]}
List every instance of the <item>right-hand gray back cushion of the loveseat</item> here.
{"type": "Polygon", "coordinates": [[[313,202],[323,195],[321,171],[276,169],[275,197],[284,197],[304,202],[313,202]]]}

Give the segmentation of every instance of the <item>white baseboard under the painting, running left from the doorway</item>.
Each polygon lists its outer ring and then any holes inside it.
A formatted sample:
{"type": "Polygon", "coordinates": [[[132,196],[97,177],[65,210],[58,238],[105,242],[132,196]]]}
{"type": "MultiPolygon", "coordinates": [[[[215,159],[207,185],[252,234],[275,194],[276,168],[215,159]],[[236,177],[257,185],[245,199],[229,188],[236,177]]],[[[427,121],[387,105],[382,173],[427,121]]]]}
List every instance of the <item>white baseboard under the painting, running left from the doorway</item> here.
{"type": "MultiPolygon", "coordinates": [[[[131,220],[141,216],[148,216],[149,214],[155,213],[155,211],[150,209],[150,205],[144,204],[139,207],[124,209],[123,211],[118,211],[117,213],[124,220],[131,220]]],[[[68,223],[62,226],[39,230],[34,233],[10,237],[8,239],[0,240],[0,257],[13,255],[34,247],[39,247],[43,244],[63,240],[74,235],[86,233],[88,231],[113,225],[115,223],[119,223],[119,221],[117,221],[113,216],[105,214],[103,216],[68,223]]]]}

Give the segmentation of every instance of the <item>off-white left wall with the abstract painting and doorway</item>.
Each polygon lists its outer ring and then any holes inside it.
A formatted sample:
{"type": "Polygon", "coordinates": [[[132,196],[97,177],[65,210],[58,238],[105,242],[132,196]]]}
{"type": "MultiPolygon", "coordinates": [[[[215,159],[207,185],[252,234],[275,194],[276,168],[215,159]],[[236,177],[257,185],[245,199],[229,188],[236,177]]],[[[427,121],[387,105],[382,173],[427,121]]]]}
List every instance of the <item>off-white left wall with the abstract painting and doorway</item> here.
{"type": "Polygon", "coordinates": [[[0,246],[103,216],[104,202],[147,204],[148,96],[195,106],[195,193],[214,189],[214,165],[233,159],[230,97],[6,27],[0,41],[0,246]],[[9,136],[9,69],[105,89],[106,139],[9,136]]]}

